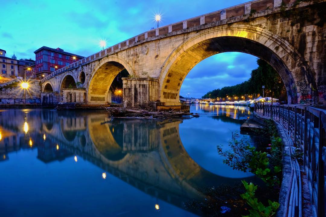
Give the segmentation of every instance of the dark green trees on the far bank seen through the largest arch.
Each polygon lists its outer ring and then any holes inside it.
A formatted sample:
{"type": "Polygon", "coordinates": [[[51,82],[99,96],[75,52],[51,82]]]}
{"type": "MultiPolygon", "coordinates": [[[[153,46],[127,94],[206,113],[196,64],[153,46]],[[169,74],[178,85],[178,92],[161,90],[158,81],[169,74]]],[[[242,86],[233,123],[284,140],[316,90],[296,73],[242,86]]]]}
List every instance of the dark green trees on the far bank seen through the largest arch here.
{"type": "Polygon", "coordinates": [[[258,68],[251,71],[247,81],[234,86],[215,89],[207,92],[202,98],[224,98],[226,96],[243,96],[262,94],[265,86],[266,96],[279,97],[285,91],[285,86],[278,73],[262,59],[257,59],[258,68]],[[271,91],[271,92],[270,92],[271,91]]]}

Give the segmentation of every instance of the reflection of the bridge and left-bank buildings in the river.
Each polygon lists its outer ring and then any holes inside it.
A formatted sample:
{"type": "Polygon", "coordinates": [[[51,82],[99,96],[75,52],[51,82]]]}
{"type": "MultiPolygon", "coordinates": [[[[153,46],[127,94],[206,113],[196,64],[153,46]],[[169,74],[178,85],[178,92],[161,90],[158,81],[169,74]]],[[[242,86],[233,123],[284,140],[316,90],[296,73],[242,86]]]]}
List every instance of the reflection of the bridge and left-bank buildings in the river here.
{"type": "MultiPolygon", "coordinates": [[[[232,115],[241,114],[241,108],[237,110],[233,108],[232,115]]],[[[231,114],[227,111],[226,115],[231,114]]],[[[214,118],[231,120],[226,116],[214,118]]],[[[104,170],[103,178],[111,173],[148,195],[184,209],[187,200],[203,197],[198,189],[240,179],[200,167],[181,142],[182,122],[111,119],[103,111],[7,110],[0,112],[0,154],[2,160],[8,160],[11,151],[37,147],[37,158],[44,163],[82,157],[104,170]],[[4,114],[15,118],[2,118],[4,114]]]]}

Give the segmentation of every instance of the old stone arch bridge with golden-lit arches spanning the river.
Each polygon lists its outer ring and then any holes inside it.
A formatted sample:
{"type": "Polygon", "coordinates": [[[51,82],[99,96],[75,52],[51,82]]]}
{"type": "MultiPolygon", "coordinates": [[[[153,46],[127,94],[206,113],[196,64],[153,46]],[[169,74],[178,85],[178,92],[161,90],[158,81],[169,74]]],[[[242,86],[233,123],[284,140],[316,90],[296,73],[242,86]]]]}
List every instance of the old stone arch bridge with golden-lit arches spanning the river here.
{"type": "Polygon", "coordinates": [[[324,104],[325,1],[255,0],[149,30],[42,79],[42,103],[110,104],[111,83],[126,69],[124,106],[178,108],[181,85],[196,64],[236,51],[267,61],[289,103],[324,104]]]}

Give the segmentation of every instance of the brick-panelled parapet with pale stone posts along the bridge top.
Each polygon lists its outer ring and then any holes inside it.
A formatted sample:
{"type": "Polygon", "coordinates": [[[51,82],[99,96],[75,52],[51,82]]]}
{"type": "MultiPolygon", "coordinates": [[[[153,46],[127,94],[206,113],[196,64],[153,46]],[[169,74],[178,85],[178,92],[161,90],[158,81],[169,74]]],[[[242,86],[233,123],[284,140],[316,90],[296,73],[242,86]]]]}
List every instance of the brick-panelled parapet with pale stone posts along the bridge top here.
{"type": "MultiPolygon", "coordinates": [[[[283,0],[283,2],[287,4],[289,8],[289,6],[293,5],[295,0],[283,0]]],[[[196,31],[198,29],[209,28],[211,26],[218,26],[230,22],[239,21],[239,19],[234,19],[235,17],[242,16],[243,19],[246,19],[249,16],[251,17],[265,16],[266,14],[259,13],[259,12],[266,9],[270,9],[270,13],[273,13],[273,8],[280,7],[281,4],[282,4],[282,0],[253,0],[236,6],[217,10],[208,14],[183,20],[180,22],[165,25],[160,28],[149,30],[135,37],[129,38],[123,42],[120,42],[116,45],[113,45],[105,50],[101,50],[95,54],[92,54],[80,61],[65,66],[51,73],[50,75],[46,76],[41,80],[41,82],[43,83],[46,80],[49,80],[50,78],[56,75],[62,74],[66,71],[75,69],[82,65],[88,64],[90,62],[101,59],[105,56],[112,55],[116,52],[127,49],[129,47],[133,47],[135,45],[141,44],[146,41],[152,41],[163,37],[169,37],[175,34],[182,34],[184,33],[184,31],[191,32],[191,31],[196,31]],[[211,23],[215,23],[215,25],[214,24],[212,25],[211,23]]],[[[303,3],[303,4],[309,4],[309,3],[303,3]]]]}

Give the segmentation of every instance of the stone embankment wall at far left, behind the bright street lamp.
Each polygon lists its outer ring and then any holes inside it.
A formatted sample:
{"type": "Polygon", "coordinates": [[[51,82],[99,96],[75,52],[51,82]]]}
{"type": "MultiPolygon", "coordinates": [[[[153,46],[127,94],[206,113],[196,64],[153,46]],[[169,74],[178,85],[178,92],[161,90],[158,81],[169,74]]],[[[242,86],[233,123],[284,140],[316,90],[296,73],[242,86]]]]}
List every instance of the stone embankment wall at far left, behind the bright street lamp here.
{"type": "Polygon", "coordinates": [[[41,105],[40,81],[29,80],[25,94],[21,83],[21,79],[12,79],[0,84],[0,107],[16,107],[24,104],[29,106],[41,105]]]}

